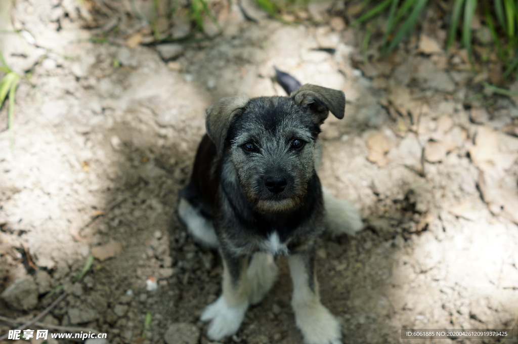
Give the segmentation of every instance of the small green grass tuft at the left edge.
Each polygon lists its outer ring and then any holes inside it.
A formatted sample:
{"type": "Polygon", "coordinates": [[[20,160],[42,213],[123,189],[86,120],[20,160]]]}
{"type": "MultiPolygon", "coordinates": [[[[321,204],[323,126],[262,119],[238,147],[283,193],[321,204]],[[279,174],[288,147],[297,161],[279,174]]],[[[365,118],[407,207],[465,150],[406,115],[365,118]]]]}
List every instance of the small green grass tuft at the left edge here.
{"type": "Polygon", "coordinates": [[[7,103],[7,127],[9,130],[11,150],[14,151],[15,133],[13,125],[15,120],[15,95],[21,76],[9,68],[2,52],[0,52],[0,72],[4,74],[2,79],[0,79],[0,108],[7,103]]]}

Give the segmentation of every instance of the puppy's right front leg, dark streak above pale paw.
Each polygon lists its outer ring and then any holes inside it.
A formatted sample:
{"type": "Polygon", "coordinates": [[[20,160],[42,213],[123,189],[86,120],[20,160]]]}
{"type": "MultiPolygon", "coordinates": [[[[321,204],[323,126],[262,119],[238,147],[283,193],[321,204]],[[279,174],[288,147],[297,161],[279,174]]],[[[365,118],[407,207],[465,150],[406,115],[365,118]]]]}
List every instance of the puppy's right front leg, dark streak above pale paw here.
{"type": "Polygon", "coordinates": [[[293,280],[292,306],[307,344],[341,344],[340,323],[320,302],[314,270],[314,249],[289,257],[293,280]]]}

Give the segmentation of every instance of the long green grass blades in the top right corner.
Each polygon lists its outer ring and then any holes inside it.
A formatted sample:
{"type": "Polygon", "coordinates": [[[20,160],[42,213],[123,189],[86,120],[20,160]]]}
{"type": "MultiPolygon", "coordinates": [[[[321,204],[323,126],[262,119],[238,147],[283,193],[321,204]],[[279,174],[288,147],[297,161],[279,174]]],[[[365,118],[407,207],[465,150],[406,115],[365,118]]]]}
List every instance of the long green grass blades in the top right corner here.
{"type": "MultiPolygon", "coordinates": [[[[369,23],[378,17],[386,18],[384,27],[382,53],[393,52],[400,42],[409,37],[418,25],[426,6],[434,6],[430,0],[383,0],[363,1],[363,14],[352,23],[359,26],[369,23]]],[[[446,48],[455,43],[465,48],[471,63],[484,56],[474,56],[471,24],[478,12],[480,18],[491,33],[492,44],[505,68],[503,76],[508,80],[518,72],[518,2],[516,0],[451,0],[448,38],[446,48]]],[[[369,33],[369,36],[372,33],[369,33]]],[[[493,46],[488,46],[493,49],[493,46]]]]}

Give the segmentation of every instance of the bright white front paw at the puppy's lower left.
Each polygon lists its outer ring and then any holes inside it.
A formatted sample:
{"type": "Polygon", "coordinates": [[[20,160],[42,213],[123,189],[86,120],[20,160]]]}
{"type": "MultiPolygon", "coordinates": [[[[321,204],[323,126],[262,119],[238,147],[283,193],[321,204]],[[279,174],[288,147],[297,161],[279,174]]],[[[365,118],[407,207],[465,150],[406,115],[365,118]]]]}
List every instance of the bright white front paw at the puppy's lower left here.
{"type": "Polygon", "coordinates": [[[207,336],[212,340],[220,340],[237,332],[248,308],[248,302],[240,307],[229,307],[223,295],[208,305],[200,320],[212,322],[209,325],[207,336]]]}

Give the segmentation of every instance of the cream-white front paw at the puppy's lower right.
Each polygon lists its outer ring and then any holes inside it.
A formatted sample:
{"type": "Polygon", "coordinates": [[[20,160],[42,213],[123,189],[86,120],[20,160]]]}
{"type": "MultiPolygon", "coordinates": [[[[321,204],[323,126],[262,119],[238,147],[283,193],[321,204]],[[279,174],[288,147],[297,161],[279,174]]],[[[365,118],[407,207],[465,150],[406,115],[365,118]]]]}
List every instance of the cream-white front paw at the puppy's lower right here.
{"type": "Polygon", "coordinates": [[[305,344],[342,344],[340,323],[322,304],[295,308],[305,344]]]}

